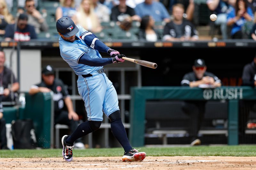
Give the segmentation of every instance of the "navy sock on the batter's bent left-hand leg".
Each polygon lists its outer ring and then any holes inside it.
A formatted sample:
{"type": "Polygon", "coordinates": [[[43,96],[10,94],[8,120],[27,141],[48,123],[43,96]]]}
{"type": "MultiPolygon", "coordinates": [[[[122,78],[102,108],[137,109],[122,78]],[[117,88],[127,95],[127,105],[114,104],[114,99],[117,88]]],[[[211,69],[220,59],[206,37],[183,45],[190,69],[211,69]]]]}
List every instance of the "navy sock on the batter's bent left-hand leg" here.
{"type": "Polygon", "coordinates": [[[83,137],[92,131],[89,121],[83,122],[77,126],[76,130],[66,139],[66,143],[73,145],[76,139],[83,137]]]}

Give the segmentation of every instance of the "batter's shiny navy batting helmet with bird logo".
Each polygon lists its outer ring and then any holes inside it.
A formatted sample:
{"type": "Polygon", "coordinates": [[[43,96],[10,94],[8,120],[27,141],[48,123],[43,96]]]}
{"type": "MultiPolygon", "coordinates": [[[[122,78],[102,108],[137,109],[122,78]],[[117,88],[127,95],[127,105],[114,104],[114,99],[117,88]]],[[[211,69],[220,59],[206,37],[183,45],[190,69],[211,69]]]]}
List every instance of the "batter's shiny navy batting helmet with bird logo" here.
{"type": "Polygon", "coordinates": [[[58,19],[56,22],[56,28],[64,37],[71,37],[79,31],[74,21],[68,17],[58,19]]]}

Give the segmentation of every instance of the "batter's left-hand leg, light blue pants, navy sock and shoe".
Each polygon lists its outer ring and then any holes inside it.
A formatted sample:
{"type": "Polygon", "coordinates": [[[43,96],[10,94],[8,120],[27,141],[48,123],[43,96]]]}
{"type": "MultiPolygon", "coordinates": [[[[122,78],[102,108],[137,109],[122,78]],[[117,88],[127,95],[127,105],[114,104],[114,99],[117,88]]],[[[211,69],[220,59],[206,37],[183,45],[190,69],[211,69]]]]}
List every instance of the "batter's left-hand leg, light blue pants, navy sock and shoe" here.
{"type": "Polygon", "coordinates": [[[92,77],[83,78],[78,76],[78,92],[84,100],[84,106],[87,112],[88,121],[81,123],[76,130],[68,137],[63,136],[63,158],[71,161],[73,157],[73,144],[76,139],[83,137],[100,128],[103,120],[102,105],[107,90],[105,79],[102,74],[93,72],[92,77]],[[70,148],[71,147],[71,148],[70,148]],[[68,154],[67,154],[68,153],[68,154]],[[65,154],[66,157],[65,158],[65,154]]]}

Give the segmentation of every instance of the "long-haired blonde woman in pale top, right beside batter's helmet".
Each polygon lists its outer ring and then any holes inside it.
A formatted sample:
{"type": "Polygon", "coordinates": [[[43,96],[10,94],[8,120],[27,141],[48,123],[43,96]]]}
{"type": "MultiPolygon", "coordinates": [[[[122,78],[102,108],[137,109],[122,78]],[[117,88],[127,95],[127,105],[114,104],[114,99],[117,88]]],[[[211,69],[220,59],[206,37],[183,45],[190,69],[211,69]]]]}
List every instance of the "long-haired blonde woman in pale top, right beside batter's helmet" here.
{"type": "Polygon", "coordinates": [[[99,33],[102,30],[99,18],[94,13],[92,0],[82,0],[77,13],[72,17],[72,20],[76,25],[83,26],[84,29],[93,33],[99,33]]]}

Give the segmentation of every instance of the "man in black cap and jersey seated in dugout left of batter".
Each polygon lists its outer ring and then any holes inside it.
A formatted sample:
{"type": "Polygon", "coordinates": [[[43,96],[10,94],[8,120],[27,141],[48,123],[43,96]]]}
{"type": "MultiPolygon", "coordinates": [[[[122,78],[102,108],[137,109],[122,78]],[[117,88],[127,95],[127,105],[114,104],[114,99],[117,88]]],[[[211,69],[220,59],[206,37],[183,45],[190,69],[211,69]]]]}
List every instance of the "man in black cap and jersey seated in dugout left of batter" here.
{"type": "MultiPolygon", "coordinates": [[[[29,94],[34,95],[38,92],[53,92],[54,101],[54,125],[66,124],[71,133],[77,128],[79,117],[73,109],[73,103],[68,95],[68,89],[60,79],[55,78],[54,69],[47,65],[42,70],[42,82],[32,85],[29,94]],[[65,106],[68,111],[65,110],[65,106]]],[[[75,147],[84,148],[81,138],[76,141],[75,147]]]]}

